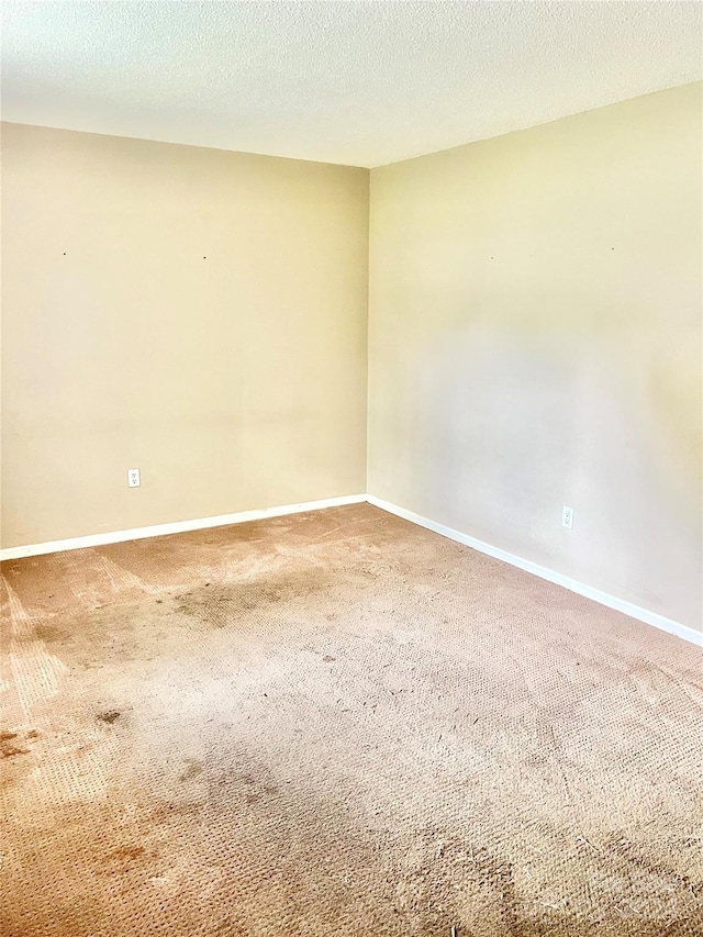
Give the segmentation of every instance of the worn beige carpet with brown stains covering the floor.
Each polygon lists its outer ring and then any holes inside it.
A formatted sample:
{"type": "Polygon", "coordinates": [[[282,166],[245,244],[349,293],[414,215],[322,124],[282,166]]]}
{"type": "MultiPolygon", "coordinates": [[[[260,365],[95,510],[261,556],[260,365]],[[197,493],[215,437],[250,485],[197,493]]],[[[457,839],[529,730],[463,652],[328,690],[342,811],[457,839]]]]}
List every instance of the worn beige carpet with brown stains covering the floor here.
{"type": "Polygon", "coordinates": [[[2,937],[703,935],[695,647],[366,504],[3,572],[2,937]]]}

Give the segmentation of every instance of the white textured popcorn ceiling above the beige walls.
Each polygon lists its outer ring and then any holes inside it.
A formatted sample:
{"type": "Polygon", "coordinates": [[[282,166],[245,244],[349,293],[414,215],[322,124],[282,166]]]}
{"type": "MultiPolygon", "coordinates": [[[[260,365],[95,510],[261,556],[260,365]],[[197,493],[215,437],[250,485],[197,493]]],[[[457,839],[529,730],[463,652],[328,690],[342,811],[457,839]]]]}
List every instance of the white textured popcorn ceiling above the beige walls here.
{"type": "Polygon", "coordinates": [[[701,78],[698,2],[11,2],[2,118],[379,166],[701,78]]]}

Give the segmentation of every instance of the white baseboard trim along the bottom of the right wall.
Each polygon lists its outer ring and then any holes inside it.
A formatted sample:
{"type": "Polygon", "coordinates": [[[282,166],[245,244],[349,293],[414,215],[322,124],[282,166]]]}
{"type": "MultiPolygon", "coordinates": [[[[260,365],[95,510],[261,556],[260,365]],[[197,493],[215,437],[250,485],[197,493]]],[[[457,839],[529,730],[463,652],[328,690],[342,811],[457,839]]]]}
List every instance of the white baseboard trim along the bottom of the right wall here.
{"type": "Polygon", "coordinates": [[[429,521],[421,514],[415,514],[414,511],[408,511],[405,507],[399,507],[397,504],[391,504],[389,501],[383,501],[381,498],[376,498],[368,494],[366,499],[369,504],[380,507],[382,511],[388,511],[389,514],[395,514],[405,521],[413,524],[419,524],[421,527],[426,527],[428,531],[434,531],[435,534],[440,534],[443,537],[448,537],[450,540],[456,540],[467,547],[471,547],[479,553],[492,556],[495,559],[509,562],[511,566],[516,566],[518,569],[524,569],[526,572],[532,572],[533,576],[538,576],[539,579],[546,579],[547,582],[554,582],[561,585],[563,589],[569,589],[571,592],[577,592],[593,602],[601,605],[606,605],[609,609],[614,609],[616,612],[622,612],[629,615],[631,618],[637,618],[647,625],[654,625],[662,632],[677,635],[691,644],[703,646],[703,634],[696,632],[695,628],[689,625],[682,625],[671,618],[666,618],[663,615],[658,615],[656,612],[650,612],[648,609],[643,609],[632,602],[626,602],[624,599],[617,599],[615,595],[609,595],[607,592],[601,592],[600,589],[593,589],[591,585],[584,585],[576,579],[570,579],[568,576],[562,576],[560,572],[555,572],[545,566],[539,566],[528,559],[515,556],[514,554],[502,550],[499,547],[486,544],[483,540],[477,540],[476,537],[470,537],[468,534],[462,534],[460,531],[455,531],[453,527],[447,527],[444,524],[437,524],[435,521],[429,521]]]}

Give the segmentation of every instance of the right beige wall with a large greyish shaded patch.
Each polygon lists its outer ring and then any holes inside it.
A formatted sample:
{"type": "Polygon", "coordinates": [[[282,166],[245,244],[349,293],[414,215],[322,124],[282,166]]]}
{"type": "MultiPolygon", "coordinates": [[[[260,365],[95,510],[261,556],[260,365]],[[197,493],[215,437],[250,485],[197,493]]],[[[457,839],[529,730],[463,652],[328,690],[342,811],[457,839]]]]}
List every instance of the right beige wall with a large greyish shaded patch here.
{"type": "Polygon", "coordinates": [[[375,169],[369,294],[368,490],[693,627],[701,138],[694,85],[375,169]]]}

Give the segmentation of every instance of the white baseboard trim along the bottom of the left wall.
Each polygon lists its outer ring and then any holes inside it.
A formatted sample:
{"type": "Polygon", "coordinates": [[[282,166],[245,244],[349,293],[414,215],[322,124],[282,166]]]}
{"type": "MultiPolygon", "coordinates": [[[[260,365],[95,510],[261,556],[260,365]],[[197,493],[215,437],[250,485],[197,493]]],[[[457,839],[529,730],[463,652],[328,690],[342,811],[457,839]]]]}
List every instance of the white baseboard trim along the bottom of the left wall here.
{"type": "Polygon", "coordinates": [[[341,507],[344,504],[360,504],[364,501],[366,501],[366,494],[343,494],[341,498],[323,498],[320,501],[281,504],[277,507],[265,507],[260,511],[239,511],[237,514],[194,517],[191,521],[175,521],[170,524],[155,524],[150,527],[133,527],[131,531],[111,531],[107,534],[89,534],[86,537],[71,537],[66,540],[49,540],[44,544],[7,547],[5,549],[0,549],[0,561],[62,553],[63,550],[80,550],[86,547],[101,547],[107,544],[121,544],[124,540],[142,540],[146,537],[163,537],[167,534],[183,534],[188,531],[204,531],[208,527],[244,524],[247,521],[261,521],[265,517],[281,517],[284,514],[301,514],[305,511],[321,511],[324,507],[341,507]]]}

